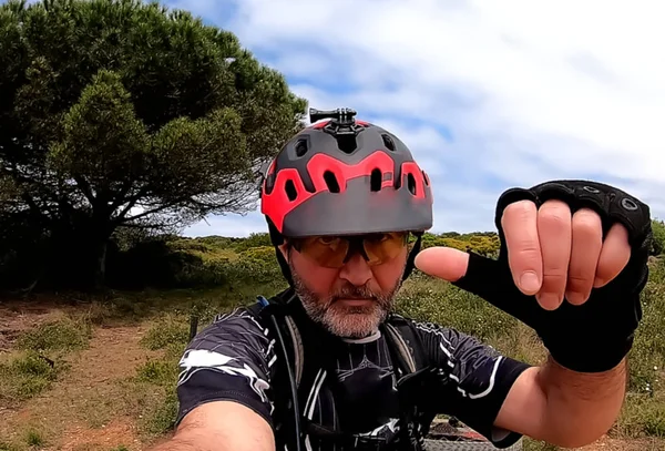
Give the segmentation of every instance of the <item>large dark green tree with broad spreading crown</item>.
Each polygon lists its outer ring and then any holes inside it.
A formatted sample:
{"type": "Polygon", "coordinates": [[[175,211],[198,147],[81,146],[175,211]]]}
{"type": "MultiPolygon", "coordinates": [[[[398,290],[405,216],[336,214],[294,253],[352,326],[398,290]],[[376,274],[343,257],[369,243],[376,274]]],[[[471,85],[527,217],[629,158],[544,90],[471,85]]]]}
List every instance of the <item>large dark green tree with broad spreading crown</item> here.
{"type": "Polygon", "coordinates": [[[42,285],[102,283],[119,226],[253,209],[257,168],[301,127],[282,74],[155,2],[11,0],[0,49],[0,262],[42,285]]]}

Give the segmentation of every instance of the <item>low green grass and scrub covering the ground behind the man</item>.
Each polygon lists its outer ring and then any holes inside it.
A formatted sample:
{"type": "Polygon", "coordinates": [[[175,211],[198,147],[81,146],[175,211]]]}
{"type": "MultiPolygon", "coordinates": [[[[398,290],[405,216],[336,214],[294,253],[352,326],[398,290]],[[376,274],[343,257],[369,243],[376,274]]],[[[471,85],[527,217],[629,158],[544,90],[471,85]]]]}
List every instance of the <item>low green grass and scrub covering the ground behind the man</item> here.
{"type": "MultiPolygon", "coordinates": [[[[488,255],[495,255],[498,250],[495,234],[451,235],[428,234],[426,246],[454,239],[460,248],[470,246],[471,250],[488,255]]],[[[103,297],[80,295],[78,298],[84,304],[79,307],[78,316],[44,321],[20,335],[10,358],[0,366],[0,380],[3,381],[0,400],[11,399],[20,406],[52,390],[53,383],[66,385],[64,375],[73,371],[72,366],[78,361],[75,356],[88,348],[88,341],[100,327],[145,326],[136,340],[144,357],[126,376],[105,382],[111,394],[76,401],[82,402],[76,409],[81,410],[76,418],[84,419],[92,428],[100,428],[113,418],[130,417],[139,437],[145,441],[168,433],[177,410],[177,361],[188,340],[191,316],[200,318],[201,329],[216,314],[285,286],[274,249],[267,243],[265,234],[248,238],[164,236],[127,248],[127,256],[143,263],[132,266],[135,289],[115,289],[103,297]],[[170,264],[158,266],[160,259],[170,264]],[[155,270],[155,266],[160,269],[155,270]],[[153,285],[160,279],[163,280],[161,284],[153,285]],[[55,365],[51,367],[40,356],[55,365]],[[102,411],[100,406],[103,406],[102,411]]],[[[644,320],[630,358],[630,392],[612,430],[615,438],[665,439],[665,260],[654,258],[651,266],[649,283],[642,298],[644,320]]],[[[120,280],[120,273],[115,276],[120,280]]],[[[62,297],[63,303],[71,298],[62,297]]],[[[539,338],[514,318],[418,270],[400,291],[398,309],[410,317],[472,334],[507,355],[531,363],[539,363],[545,357],[539,338]]],[[[43,430],[53,429],[44,427],[43,430]]],[[[25,443],[25,433],[13,441],[0,434],[0,442],[23,449],[20,447],[25,443]]],[[[51,442],[57,440],[57,432],[42,432],[40,437],[51,442]]],[[[529,441],[529,449],[555,448],[529,441]]]]}

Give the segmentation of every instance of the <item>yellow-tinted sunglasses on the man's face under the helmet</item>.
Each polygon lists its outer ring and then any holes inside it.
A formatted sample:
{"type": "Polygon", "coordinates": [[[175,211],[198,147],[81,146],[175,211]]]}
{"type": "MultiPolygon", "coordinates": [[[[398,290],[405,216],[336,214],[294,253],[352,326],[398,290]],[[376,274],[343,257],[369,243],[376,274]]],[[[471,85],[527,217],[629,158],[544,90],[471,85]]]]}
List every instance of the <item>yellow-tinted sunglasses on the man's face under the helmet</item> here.
{"type": "Polygon", "coordinates": [[[409,242],[403,232],[358,236],[311,236],[290,239],[293,247],[317,265],[342,267],[355,253],[360,253],[369,266],[397,257],[409,242]]]}

